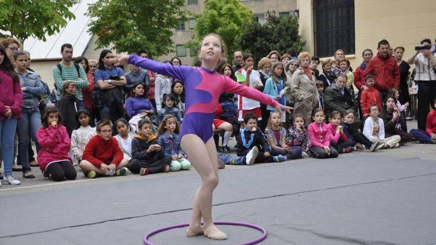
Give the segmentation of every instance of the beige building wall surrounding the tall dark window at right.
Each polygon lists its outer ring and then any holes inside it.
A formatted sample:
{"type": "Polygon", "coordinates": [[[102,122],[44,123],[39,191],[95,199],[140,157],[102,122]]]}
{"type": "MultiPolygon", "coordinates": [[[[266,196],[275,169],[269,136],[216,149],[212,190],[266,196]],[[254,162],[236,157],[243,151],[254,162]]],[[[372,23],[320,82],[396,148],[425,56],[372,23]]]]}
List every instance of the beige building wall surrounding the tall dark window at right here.
{"type": "MultiPolygon", "coordinates": [[[[299,0],[300,34],[307,42],[304,49],[311,54],[315,49],[312,7],[313,0],[299,0]]],[[[362,62],[364,49],[377,53],[382,39],[393,48],[403,46],[407,60],[422,39],[434,42],[436,38],[435,0],[355,0],[354,12],[356,54],[347,55],[353,69],[362,62]]]]}

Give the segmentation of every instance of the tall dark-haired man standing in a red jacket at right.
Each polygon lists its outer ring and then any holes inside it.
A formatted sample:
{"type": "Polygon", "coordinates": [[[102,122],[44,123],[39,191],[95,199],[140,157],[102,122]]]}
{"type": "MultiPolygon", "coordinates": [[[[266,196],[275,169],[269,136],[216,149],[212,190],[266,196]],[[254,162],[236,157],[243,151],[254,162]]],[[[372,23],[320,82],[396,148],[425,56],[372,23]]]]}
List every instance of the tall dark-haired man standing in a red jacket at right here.
{"type": "Polygon", "coordinates": [[[380,92],[382,101],[386,97],[387,90],[400,85],[400,72],[395,58],[389,55],[389,43],[383,39],[379,42],[377,55],[368,62],[365,76],[374,74],[377,83],[374,87],[380,92]]]}

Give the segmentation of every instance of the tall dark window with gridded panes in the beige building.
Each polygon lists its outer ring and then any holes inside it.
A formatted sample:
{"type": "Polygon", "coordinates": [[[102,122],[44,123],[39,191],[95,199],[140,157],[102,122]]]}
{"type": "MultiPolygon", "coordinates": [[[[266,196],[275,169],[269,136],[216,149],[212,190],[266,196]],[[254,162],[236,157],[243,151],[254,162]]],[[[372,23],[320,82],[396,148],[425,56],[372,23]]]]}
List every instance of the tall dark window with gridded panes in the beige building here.
{"type": "Polygon", "coordinates": [[[354,0],[314,0],[315,55],[354,54],[354,0]]]}

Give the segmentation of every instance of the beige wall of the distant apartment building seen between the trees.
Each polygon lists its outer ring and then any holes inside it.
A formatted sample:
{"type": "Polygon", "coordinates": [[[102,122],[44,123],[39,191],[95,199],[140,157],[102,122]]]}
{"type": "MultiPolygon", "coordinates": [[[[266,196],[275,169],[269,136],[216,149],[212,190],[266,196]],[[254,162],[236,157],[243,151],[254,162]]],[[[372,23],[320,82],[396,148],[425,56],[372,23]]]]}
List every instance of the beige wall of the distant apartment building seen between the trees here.
{"type": "MultiPolygon", "coordinates": [[[[294,10],[297,8],[297,0],[241,0],[243,4],[249,7],[254,15],[265,14],[267,11],[275,11],[278,15],[279,12],[290,12],[290,15],[294,14],[294,10]]],[[[192,13],[200,13],[205,5],[205,0],[198,0],[198,4],[186,4],[186,8],[192,13]]],[[[176,45],[186,44],[191,40],[191,31],[189,30],[188,21],[185,22],[185,31],[175,31],[172,36],[174,42],[174,48],[176,45]]],[[[170,59],[176,56],[176,52],[168,53],[158,57],[160,61],[170,59]]],[[[180,57],[182,64],[192,64],[194,57],[189,55],[189,49],[186,49],[186,57],[180,57]]]]}

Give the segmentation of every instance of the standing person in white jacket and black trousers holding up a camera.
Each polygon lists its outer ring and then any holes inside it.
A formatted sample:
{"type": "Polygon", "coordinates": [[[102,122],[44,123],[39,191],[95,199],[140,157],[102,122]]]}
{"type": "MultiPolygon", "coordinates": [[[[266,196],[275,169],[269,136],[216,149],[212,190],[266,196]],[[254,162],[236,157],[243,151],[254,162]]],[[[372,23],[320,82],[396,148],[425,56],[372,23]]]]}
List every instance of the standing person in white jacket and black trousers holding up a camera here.
{"type": "Polygon", "coordinates": [[[421,45],[415,47],[416,52],[407,62],[415,64],[415,82],[418,84],[418,129],[426,130],[427,114],[429,106],[434,106],[431,101],[436,98],[436,58],[430,51],[432,42],[430,39],[421,41],[421,45]]]}

